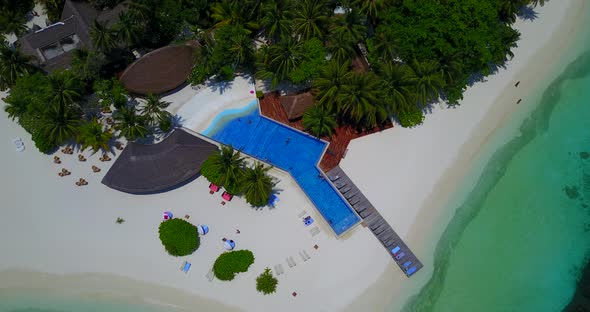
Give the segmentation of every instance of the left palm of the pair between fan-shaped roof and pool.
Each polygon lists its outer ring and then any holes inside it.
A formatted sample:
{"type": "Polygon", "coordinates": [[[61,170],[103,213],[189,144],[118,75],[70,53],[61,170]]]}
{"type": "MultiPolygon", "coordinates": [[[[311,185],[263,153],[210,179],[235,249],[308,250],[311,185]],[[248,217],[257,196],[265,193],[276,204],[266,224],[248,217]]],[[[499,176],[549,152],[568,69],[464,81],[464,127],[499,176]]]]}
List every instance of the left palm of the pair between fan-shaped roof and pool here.
{"type": "Polygon", "coordinates": [[[223,146],[219,153],[215,153],[201,165],[201,174],[212,183],[222,185],[231,194],[240,193],[244,158],[233,147],[223,146]]]}

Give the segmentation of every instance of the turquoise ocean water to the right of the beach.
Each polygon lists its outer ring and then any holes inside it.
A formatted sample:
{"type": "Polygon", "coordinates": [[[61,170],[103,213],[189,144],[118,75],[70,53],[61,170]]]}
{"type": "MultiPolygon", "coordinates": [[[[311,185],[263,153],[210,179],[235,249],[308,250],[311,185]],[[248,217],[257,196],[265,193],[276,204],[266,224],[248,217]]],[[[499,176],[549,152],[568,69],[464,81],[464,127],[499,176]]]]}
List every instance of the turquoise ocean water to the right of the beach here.
{"type": "Polygon", "coordinates": [[[590,255],[590,35],[580,31],[579,56],[532,96],[520,135],[463,185],[433,276],[404,311],[554,312],[573,296],[590,255]]]}

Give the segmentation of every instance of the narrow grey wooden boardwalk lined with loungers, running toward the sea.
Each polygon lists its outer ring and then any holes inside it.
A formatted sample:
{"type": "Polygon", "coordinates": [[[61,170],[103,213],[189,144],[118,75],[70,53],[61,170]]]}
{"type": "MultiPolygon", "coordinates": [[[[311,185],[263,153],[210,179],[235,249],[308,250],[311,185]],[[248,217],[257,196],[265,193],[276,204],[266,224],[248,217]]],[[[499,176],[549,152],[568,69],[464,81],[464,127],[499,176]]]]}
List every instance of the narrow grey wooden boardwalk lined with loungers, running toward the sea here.
{"type": "Polygon", "coordinates": [[[332,184],[334,184],[342,196],[346,198],[348,203],[361,216],[363,223],[369,227],[406,276],[410,277],[418,272],[423,267],[420,260],[416,258],[416,255],[414,255],[410,248],[395,233],[389,223],[383,219],[379,211],[375,209],[373,204],[354,185],[346,173],[339,166],[336,166],[328,171],[327,175],[332,181],[332,184]],[[404,254],[399,260],[391,252],[395,247],[399,247],[398,256],[402,253],[404,254]],[[407,264],[408,261],[409,264],[407,264]],[[408,272],[410,268],[415,268],[415,270],[408,272]]]}

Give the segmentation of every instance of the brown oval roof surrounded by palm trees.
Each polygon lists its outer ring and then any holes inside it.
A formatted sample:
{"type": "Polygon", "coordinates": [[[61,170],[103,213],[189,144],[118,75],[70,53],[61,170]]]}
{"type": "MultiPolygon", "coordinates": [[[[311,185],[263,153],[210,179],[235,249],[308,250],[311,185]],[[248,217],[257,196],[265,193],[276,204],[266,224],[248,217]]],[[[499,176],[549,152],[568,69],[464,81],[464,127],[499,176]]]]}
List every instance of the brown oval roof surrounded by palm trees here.
{"type": "Polygon", "coordinates": [[[160,94],[182,85],[195,62],[195,48],[171,45],[154,50],[129,65],[120,77],[127,90],[160,94]]]}

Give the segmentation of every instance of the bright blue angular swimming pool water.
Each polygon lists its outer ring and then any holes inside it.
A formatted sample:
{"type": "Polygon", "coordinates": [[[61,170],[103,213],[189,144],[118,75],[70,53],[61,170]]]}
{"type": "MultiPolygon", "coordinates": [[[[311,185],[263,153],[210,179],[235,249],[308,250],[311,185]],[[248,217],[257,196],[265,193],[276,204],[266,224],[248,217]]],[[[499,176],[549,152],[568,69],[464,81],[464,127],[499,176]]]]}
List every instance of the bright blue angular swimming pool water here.
{"type": "Polygon", "coordinates": [[[326,143],[263,118],[258,109],[217,128],[208,133],[212,139],[288,171],[336,235],[360,221],[316,167],[326,143]]]}

